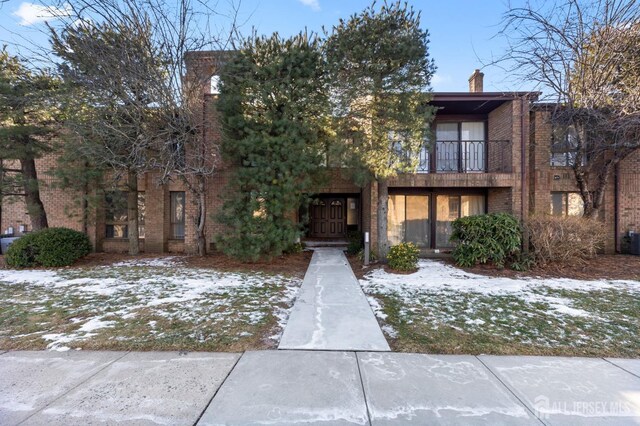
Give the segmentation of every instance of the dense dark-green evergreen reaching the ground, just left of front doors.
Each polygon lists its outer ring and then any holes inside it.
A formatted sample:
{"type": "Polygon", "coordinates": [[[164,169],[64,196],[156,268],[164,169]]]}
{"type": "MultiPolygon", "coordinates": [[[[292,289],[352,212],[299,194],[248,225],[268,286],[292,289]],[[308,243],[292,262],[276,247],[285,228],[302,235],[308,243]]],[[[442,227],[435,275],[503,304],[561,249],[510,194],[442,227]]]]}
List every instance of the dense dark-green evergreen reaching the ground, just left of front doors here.
{"type": "Polygon", "coordinates": [[[308,202],[321,163],[328,117],[317,37],[253,37],[226,64],[218,109],[223,153],[234,171],[219,220],[227,254],[280,255],[301,235],[297,210],[308,202]]]}

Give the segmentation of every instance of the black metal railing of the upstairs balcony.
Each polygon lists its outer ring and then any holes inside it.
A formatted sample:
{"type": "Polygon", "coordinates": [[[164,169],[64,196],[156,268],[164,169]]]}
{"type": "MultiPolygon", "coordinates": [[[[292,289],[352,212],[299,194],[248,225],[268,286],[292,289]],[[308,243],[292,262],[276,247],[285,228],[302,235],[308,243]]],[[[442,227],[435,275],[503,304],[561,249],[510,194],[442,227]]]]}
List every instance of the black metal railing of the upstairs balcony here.
{"type": "Polygon", "coordinates": [[[416,173],[511,173],[511,141],[436,141],[419,154],[416,173]]]}

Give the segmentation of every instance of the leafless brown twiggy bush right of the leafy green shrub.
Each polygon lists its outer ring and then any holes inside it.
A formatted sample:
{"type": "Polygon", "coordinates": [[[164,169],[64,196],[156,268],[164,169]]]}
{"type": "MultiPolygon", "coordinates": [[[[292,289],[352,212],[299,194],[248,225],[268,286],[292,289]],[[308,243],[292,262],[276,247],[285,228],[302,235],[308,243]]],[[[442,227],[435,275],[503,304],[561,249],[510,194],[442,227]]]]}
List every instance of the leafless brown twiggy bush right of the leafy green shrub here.
{"type": "Polygon", "coordinates": [[[597,219],[541,216],[527,221],[531,253],[538,265],[586,263],[604,248],[606,229],[597,219]]]}

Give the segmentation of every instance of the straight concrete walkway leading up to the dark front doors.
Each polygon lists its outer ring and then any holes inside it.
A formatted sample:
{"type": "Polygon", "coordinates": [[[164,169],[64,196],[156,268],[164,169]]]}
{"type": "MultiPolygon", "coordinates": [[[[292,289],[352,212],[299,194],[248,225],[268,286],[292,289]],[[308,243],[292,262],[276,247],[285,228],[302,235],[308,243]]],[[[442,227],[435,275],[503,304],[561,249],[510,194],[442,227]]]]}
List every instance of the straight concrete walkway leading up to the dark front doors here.
{"type": "Polygon", "coordinates": [[[278,349],[390,350],[342,250],[315,249],[278,349]]]}

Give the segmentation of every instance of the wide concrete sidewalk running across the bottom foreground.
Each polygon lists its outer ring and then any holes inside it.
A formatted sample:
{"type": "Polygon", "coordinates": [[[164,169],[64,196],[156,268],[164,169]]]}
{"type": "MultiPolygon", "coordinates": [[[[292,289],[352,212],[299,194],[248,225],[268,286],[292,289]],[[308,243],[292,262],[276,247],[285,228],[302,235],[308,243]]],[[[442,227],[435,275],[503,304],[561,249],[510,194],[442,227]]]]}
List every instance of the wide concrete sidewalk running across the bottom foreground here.
{"type": "Polygon", "coordinates": [[[0,424],[640,424],[640,360],[7,352],[0,424]]]}

